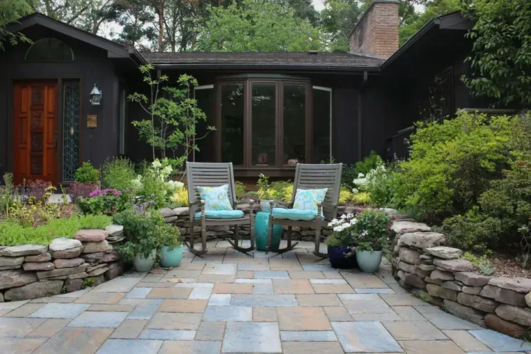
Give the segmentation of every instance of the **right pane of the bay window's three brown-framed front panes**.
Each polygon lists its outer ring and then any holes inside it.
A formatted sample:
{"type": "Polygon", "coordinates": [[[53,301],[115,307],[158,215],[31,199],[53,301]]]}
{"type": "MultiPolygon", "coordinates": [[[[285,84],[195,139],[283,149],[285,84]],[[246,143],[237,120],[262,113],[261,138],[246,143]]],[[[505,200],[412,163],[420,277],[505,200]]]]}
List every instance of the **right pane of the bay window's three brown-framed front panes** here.
{"type": "Polygon", "coordinates": [[[304,120],[306,117],[305,85],[284,84],[284,156],[285,165],[304,162],[306,157],[304,120]]]}

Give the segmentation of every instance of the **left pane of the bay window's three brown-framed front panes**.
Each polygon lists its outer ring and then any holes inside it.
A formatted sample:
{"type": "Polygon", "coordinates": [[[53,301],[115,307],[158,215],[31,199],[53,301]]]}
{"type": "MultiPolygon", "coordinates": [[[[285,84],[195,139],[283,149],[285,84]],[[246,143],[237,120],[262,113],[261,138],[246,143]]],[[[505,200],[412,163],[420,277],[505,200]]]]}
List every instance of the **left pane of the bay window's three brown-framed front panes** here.
{"type": "Polygon", "coordinates": [[[221,85],[221,162],[243,165],[243,84],[221,85]]]}

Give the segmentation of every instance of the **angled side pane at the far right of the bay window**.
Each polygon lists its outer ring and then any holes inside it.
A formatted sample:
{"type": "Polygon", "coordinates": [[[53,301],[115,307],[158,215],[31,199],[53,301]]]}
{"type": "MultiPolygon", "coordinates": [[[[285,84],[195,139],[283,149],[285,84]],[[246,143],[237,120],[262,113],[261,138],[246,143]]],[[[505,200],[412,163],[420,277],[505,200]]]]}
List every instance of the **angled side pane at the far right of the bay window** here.
{"type": "Polygon", "coordinates": [[[330,160],[330,91],[313,89],[313,162],[330,160]]]}

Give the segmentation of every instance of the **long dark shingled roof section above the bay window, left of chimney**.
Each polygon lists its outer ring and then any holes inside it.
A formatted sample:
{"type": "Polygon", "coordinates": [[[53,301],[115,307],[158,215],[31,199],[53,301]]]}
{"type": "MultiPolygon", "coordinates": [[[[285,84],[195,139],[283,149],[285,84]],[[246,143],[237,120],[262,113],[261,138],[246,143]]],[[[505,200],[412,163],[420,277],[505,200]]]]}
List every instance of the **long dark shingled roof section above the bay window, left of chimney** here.
{"type": "Polygon", "coordinates": [[[348,53],[219,53],[145,52],[142,56],[155,66],[264,67],[301,69],[377,69],[384,59],[348,53]]]}

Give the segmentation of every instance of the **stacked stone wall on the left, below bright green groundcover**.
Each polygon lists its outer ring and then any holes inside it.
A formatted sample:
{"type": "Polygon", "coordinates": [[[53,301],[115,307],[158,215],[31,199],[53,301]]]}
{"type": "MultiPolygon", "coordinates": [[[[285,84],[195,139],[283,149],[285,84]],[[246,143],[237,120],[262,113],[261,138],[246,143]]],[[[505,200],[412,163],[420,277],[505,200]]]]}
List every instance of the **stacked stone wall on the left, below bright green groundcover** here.
{"type": "Polygon", "coordinates": [[[112,243],[123,227],[79,230],[49,245],[0,246],[0,302],[37,299],[81,290],[123,272],[112,243]]]}

